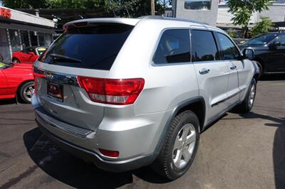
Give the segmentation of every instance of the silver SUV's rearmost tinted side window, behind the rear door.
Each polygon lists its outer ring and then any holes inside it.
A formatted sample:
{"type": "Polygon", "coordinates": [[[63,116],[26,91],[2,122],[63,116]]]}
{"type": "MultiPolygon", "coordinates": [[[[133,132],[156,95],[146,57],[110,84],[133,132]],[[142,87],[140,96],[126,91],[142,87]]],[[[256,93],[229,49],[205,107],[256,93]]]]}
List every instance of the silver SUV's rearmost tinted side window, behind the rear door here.
{"type": "Polygon", "coordinates": [[[161,38],[153,57],[155,64],[190,62],[189,30],[167,30],[161,38]]]}

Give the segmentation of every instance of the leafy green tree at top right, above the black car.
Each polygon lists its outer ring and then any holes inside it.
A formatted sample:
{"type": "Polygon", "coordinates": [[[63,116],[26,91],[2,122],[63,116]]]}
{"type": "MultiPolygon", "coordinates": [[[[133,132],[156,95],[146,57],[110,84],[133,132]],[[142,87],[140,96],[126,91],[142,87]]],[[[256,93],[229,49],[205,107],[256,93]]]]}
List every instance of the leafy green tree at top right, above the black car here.
{"type": "Polygon", "coordinates": [[[242,26],[243,37],[247,36],[247,30],[252,13],[268,10],[271,0],[229,0],[229,12],[233,14],[234,25],[242,26]]]}

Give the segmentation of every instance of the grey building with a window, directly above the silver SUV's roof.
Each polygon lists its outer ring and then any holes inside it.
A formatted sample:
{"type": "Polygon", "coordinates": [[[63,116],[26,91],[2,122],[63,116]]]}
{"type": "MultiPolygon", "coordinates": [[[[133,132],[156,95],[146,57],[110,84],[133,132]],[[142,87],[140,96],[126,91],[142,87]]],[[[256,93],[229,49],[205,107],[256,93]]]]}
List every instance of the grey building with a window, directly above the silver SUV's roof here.
{"type": "Polygon", "coordinates": [[[173,0],[173,16],[216,26],[219,0],[173,0]]]}

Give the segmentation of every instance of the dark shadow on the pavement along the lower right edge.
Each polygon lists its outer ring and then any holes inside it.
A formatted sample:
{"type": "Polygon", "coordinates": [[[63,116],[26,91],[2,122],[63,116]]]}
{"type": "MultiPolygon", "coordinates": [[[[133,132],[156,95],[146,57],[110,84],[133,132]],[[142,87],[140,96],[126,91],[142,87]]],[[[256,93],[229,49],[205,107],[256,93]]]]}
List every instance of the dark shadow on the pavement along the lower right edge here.
{"type": "Polygon", "coordinates": [[[275,123],[266,123],[265,126],[275,126],[273,145],[274,179],[276,188],[285,188],[285,113],[284,117],[271,117],[264,114],[249,112],[240,114],[246,119],[266,119],[275,123]]]}

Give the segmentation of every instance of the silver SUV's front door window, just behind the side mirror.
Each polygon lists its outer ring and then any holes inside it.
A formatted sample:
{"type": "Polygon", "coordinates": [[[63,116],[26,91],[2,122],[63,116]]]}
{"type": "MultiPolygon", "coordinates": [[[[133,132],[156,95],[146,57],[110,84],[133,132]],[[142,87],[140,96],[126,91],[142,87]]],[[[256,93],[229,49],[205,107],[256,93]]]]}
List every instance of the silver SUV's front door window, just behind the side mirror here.
{"type": "Polygon", "coordinates": [[[234,43],[232,43],[232,41],[222,33],[217,33],[217,36],[224,55],[224,60],[235,60],[239,58],[239,50],[237,50],[234,43]]]}

